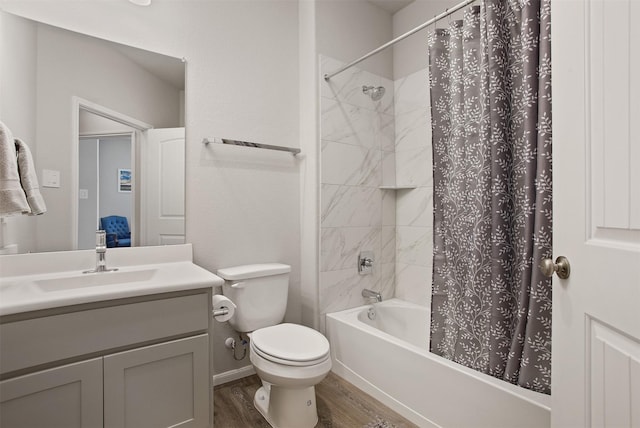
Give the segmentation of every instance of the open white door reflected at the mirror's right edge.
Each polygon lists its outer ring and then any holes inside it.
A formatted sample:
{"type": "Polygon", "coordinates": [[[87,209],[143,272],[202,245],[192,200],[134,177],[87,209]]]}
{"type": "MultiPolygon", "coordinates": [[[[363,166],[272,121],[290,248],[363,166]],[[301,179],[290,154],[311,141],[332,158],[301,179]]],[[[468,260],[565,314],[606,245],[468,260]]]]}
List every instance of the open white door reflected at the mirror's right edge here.
{"type": "Polygon", "coordinates": [[[142,169],[142,245],[185,242],[184,128],[145,132],[142,169]]]}

